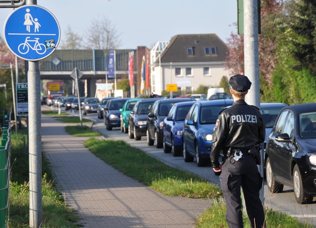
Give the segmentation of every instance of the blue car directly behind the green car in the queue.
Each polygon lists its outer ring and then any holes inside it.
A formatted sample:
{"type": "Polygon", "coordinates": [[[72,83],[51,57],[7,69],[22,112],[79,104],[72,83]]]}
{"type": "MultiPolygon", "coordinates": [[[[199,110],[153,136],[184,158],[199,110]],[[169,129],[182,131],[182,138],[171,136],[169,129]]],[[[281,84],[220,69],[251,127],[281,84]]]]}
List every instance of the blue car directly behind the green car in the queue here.
{"type": "Polygon", "coordinates": [[[106,130],[111,131],[113,127],[121,126],[120,119],[120,108],[123,107],[126,100],[130,98],[115,98],[110,99],[104,108],[103,111],[103,120],[104,125],[106,125],[106,130]]]}

